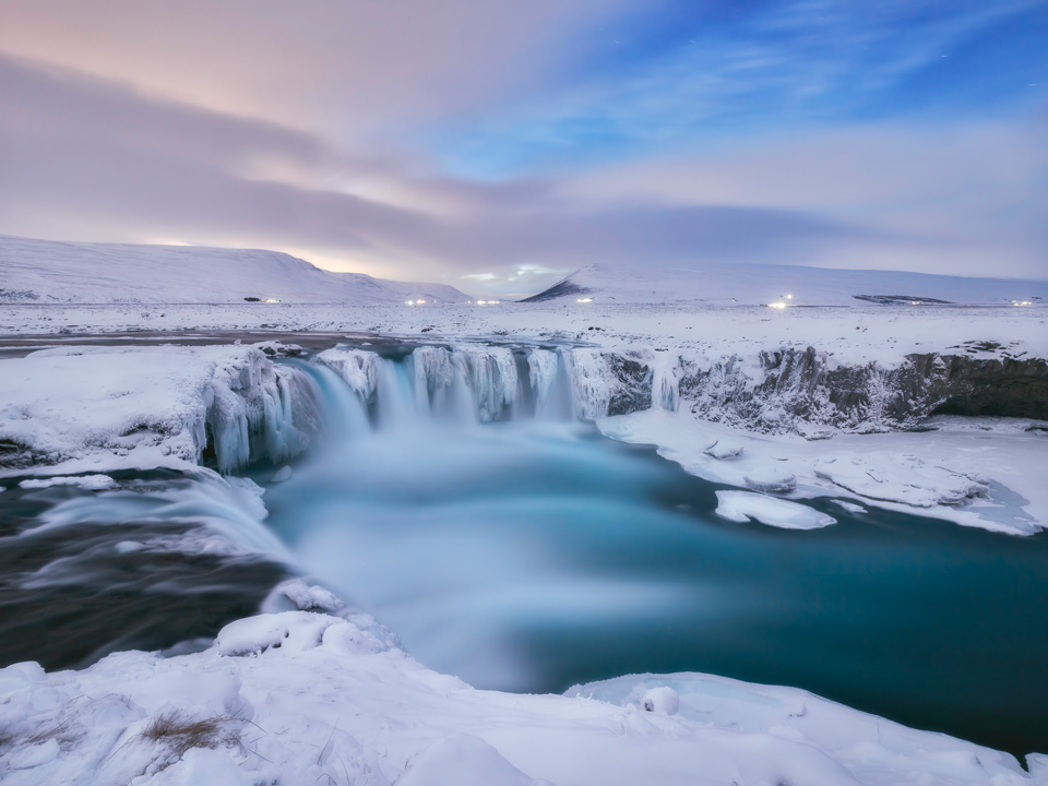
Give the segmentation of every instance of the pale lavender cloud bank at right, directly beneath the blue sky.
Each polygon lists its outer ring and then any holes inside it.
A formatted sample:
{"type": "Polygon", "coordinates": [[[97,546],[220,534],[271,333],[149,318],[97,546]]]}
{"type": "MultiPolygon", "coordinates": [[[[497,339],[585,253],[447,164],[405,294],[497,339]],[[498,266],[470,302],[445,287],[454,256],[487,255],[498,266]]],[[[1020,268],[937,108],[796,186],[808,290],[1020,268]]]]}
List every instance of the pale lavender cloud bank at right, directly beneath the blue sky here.
{"type": "Polygon", "coordinates": [[[827,247],[812,264],[1044,278],[1046,117],[743,139],[575,172],[560,195],[789,210],[870,230],[868,242],[827,247]]]}

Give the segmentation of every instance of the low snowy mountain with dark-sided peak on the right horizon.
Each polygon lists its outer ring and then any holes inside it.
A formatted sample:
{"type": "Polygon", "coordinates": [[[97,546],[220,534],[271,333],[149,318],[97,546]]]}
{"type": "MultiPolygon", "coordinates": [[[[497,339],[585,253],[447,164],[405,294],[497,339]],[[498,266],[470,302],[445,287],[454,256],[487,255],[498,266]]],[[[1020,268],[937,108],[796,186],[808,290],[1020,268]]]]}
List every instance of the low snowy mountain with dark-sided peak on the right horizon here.
{"type": "Polygon", "coordinates": [[[1048,281],[850,271],[797,265],[714,264],[646,270],[594,264],[521,302],[584,300],[670,303],[855,306],[860,302],[1048,303],[1048,281]]]}

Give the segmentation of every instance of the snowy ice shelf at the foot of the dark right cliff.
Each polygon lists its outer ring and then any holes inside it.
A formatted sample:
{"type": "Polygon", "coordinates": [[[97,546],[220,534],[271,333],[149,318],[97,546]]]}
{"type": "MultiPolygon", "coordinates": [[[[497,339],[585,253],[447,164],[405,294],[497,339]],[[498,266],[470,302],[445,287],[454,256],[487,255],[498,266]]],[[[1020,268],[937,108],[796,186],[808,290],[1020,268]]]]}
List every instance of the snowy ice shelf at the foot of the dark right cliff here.
{"type": "Polygon", "coordinates": [[[841,498],[1011,535],[1048,526],[1040,473],[1048,434],[1023,418],[941,416],[928,421],[930,431],[837,433],[817,441],[751,433],[659,409],[597,425],[615,439],[656,445],[659,455],[692,475],[738,488],[788,476],[794,481],[782,493],[794,500],[841,498]],[[724,453],[707,448],[719,444],[729,448],[724,453]]]}

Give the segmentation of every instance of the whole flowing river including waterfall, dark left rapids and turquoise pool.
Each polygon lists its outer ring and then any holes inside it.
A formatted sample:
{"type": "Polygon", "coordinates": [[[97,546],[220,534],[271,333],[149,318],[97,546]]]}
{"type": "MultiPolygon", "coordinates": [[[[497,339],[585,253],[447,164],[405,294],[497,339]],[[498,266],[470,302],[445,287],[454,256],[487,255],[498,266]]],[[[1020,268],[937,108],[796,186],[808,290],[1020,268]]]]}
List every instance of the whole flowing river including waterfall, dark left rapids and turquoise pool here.
{"type": "Polygon", "coordinates": [[[1048,538],[832,500],[823,529],[728,523],[720,487],[576,421],[556,353],[343,360],[298,362],[325,434],[286,481],[249,468],[264,524],[213,476],[0,495],[3,663],[184,648],[300,574],[480,688],[710,671],[1048,750],[1048,538]]]}

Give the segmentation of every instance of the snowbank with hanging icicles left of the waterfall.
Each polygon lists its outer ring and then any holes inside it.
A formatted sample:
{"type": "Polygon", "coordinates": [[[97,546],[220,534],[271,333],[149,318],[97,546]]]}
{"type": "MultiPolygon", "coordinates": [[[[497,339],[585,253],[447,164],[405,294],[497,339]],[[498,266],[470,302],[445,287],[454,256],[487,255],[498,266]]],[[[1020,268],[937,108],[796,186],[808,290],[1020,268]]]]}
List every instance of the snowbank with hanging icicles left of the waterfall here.
{"type": "Polygon", "coordinates": [[[0,360],[0,472],[198,464],[300,452],[310,388],[257,348],[76,347],[0,360]],[[46,465],[46,466],[41,466],[46,465]]]}

